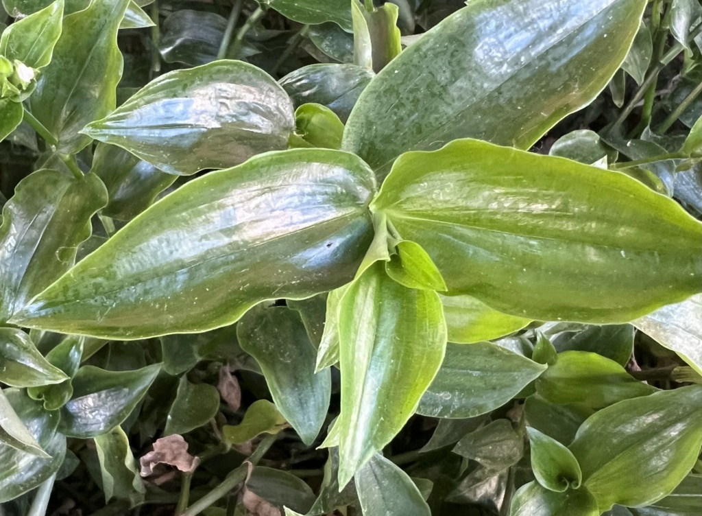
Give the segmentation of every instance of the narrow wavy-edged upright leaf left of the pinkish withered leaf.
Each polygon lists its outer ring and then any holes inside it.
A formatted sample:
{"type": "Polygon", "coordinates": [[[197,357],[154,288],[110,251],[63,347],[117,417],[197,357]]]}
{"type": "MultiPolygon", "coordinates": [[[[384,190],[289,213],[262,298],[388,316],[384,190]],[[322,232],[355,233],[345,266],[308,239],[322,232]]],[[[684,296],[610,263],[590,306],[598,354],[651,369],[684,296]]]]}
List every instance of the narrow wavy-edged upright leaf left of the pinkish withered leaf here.
{"type": "Polygon", "coordinates": [[[136,469],[129,440],[121,427],[95,437],[95,449],[100,459],[102,491],[105,502],[112,498],[137,503],[143,500],[146,488],[136,469]]]}

